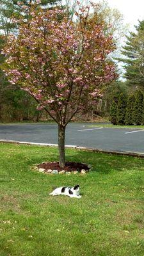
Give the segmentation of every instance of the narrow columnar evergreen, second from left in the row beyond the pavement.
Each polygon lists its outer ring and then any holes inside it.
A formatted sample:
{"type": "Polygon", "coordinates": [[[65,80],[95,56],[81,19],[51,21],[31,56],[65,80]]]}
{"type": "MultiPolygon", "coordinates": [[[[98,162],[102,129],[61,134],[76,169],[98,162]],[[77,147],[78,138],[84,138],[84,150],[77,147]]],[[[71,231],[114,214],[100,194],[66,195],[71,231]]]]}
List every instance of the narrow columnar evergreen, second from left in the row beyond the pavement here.
{"type": "Polygon", "coordinates": [[[120,97],[118,99],[118,107],[116,111],[116,120],[117,124],[124,125],[125,124],[125,113],[126,113],[126,97],[124,93],[120,93],[120,97]]]}

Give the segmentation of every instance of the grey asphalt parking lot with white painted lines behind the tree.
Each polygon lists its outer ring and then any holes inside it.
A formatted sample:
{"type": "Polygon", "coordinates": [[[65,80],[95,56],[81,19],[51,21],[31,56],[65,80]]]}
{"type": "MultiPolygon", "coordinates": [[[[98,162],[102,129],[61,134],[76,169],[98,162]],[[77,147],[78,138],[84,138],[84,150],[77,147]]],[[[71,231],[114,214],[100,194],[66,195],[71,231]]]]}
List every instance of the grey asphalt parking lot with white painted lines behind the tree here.
{"type": "MultiPolygon", "coordinates": [[[[90,127],[91,124],[68,124],[66,145],[144,153],[144,131],[90,127]]],[[[0,125],[0,140],[17,140],[58,144],[56,124],[0,125]]]]}

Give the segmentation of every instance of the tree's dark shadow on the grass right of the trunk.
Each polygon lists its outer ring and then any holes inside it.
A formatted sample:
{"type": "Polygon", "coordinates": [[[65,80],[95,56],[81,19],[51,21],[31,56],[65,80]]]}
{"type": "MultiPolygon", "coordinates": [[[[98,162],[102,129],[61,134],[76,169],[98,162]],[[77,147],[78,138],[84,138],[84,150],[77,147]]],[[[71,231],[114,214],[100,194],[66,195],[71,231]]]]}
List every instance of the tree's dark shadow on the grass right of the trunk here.
{"type": "Polygon", "coordinates": [[[83,150],[66,150],[67,161],[76,161],[92,165],[92,172],[110,173],[112,171],[125,172],[127,170],[144,170],[144,159],[132,156],[118,156],[100,152],[83,150]]]}

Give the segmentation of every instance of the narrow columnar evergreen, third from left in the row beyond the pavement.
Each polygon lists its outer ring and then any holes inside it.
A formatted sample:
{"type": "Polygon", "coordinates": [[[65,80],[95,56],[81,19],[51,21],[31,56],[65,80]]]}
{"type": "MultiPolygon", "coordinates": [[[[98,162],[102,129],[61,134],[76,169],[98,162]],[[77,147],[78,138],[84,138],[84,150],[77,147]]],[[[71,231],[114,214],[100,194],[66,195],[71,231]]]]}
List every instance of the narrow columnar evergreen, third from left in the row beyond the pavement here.
{"type": "Polygon", "coordinates": [[[134,95],[129,95],[127,99],[127,108],[126,108],[126,115],[125,115],[125,124],[132,125],[133,124],[133,111],[134,111],[134,103],[136,98],[134,95]]]}

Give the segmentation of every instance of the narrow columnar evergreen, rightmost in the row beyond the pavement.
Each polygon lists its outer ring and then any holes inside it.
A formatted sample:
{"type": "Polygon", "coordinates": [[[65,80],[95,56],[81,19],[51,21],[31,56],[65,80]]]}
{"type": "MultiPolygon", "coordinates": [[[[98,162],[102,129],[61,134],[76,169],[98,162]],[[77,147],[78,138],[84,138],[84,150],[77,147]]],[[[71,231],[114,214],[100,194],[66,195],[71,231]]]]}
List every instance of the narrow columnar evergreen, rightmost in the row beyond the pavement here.
{"type": "Polygon", "coordinates": [[[143,119],[143,93],[141,90],[136,92],[136,101],[134,104],[133,120],[136,125],[141,125],[143,119]]]}

